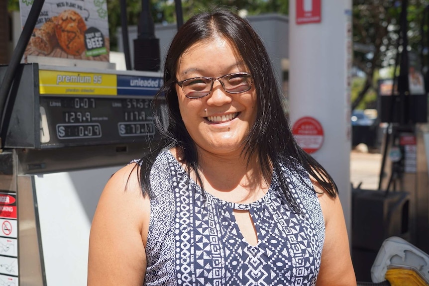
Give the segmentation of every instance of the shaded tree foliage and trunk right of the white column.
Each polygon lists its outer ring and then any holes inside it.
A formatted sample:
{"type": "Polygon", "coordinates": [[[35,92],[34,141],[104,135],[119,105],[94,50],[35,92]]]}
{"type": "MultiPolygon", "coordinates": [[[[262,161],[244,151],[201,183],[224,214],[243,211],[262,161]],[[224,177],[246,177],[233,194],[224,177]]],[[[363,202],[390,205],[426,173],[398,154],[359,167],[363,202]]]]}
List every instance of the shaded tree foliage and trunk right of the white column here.
{"type": "MultiPolygon", "coordinates": [[[[410,0],[407,8],[407,50],[419,55],[425,0],[410,0]]],[[[354,0],[353,1],[353,65],[365,73],[365,82],[355,96],[351,108],[356,108],[368,92],[376,90],[375,76],[381,68],[394,66],[398,52],[402,50],[401,1],[354,0]]],[[[418,58],[418,56],[417,56],[418,58]]]]}

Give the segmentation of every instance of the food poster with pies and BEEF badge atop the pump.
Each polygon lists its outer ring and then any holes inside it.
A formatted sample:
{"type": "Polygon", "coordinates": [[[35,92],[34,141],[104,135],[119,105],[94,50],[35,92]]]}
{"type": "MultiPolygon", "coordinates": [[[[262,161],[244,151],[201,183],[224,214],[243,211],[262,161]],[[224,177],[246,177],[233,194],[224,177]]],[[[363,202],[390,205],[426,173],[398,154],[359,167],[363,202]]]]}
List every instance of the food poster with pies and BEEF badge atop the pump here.
{"type": "MultiPolygon", "coordinates": [[[[24,26],[33,0],[20,0],[24,26]]],[[[28,56],[108,62],[107,0],[45,0],[24,53],[28,56]]]]}

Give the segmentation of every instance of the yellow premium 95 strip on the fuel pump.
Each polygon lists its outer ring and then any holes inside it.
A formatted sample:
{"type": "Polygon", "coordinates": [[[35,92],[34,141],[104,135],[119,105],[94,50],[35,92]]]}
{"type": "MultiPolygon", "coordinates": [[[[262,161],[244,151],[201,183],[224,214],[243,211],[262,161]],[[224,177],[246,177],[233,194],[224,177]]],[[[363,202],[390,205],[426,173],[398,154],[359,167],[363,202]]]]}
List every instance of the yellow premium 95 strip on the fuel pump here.
{"type": "Polygon", "coordinates": [[[117,95],[116,75],[39,71],[41,95],[117,95]]]}

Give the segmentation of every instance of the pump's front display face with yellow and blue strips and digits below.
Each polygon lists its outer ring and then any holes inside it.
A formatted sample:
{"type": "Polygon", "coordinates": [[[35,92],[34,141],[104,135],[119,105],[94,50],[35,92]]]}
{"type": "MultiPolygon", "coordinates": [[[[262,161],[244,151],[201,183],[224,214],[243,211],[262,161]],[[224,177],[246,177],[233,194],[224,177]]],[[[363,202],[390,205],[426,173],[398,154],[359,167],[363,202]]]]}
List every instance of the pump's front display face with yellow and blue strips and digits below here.
{"type": "Polygon", "coordinates": [[[39,71],[44,148],[156,140],[157,77],[39,71]]]}

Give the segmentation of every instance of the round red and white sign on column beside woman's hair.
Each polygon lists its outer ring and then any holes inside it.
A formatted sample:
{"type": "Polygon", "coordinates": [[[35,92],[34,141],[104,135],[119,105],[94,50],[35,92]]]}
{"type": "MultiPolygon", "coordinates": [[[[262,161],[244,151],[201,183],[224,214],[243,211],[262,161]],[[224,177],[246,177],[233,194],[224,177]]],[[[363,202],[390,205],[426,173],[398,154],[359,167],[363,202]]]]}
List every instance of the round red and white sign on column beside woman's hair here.
{"type": "Polygon", "coordinates": [[[323,128],[318,120],[306,116],[298,119],[292,126],[295,139],[307,153],[318,151],[323,144],[323,128]]]}

